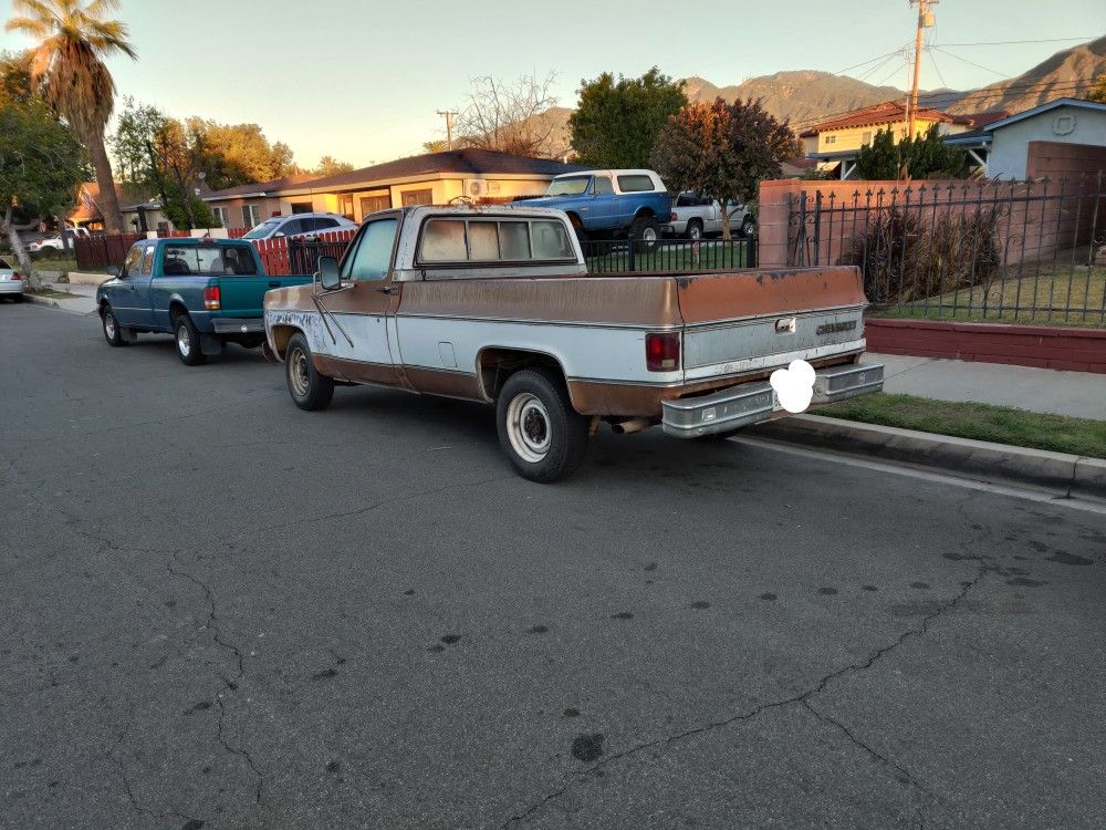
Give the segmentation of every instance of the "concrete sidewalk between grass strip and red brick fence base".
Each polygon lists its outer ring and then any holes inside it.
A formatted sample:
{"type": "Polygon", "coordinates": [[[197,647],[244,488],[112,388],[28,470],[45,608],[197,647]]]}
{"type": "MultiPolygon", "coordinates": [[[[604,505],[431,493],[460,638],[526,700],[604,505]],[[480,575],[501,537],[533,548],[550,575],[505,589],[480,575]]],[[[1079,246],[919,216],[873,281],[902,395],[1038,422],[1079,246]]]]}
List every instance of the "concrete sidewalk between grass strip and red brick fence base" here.
{"type": "Polygon", "coordinates": [[[884,392],[1106,419],[1106,375],[876,352],[864,357],[884,364],[884,392]]]}

